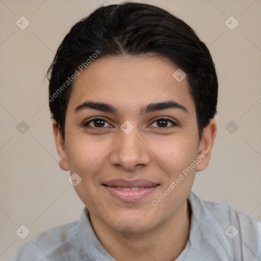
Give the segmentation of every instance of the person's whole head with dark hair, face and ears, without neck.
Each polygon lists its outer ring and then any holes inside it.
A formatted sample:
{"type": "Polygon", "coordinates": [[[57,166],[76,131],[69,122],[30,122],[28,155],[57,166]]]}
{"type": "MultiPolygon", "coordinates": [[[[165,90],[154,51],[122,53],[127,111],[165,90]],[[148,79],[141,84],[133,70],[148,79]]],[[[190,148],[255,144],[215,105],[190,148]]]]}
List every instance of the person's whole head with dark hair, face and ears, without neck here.
{"type": "Polygon", "coordinates": [[[71,28],[48,72],[59,164],[81,177],[90,213],[137,233],[175,215],[216,135],[215,66],[189,25],[151,5],[100,7],[71,28]],[[119,198],[125,181],[149,189],[119,198]]]}

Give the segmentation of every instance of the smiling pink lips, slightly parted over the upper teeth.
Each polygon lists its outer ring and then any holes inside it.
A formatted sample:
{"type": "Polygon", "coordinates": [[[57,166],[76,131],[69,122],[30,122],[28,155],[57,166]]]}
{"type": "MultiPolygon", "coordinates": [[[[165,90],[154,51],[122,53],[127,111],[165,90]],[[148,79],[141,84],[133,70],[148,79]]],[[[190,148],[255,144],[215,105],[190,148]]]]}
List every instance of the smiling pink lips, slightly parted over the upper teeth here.
{"type": "Polygon", "coordinates": [[[144,179],[113,179],[102,185],[113,197],[126,202],[140,200],[160,186],[144,179]]]}

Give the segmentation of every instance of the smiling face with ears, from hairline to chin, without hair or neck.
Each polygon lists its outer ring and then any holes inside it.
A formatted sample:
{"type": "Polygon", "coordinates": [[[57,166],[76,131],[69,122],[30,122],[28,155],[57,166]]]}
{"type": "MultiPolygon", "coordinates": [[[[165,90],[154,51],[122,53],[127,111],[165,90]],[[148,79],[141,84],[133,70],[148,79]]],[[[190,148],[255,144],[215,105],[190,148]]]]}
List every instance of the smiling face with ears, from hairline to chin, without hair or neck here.
{"type": "Polygon", "coordinates": [[[60,167],[82,178],[77,194],[114,231],[142,233],[174,217],[207,166],[215,128],[199,141],[177,69],[159,57],[95,60],[74,80],[65,143],[54,124],[60,167]]]}

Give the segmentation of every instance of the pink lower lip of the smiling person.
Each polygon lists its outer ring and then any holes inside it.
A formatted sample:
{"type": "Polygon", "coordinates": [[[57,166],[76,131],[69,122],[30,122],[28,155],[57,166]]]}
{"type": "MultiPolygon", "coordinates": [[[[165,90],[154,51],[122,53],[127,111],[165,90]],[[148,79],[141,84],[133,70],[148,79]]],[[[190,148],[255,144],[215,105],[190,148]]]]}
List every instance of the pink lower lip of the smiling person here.
{"type": "Polygon", "coordinates": [[[147,187],[141,190],[120,190],[117,189],[116,187],[109,187],[109,186],[103,186],[103,187],[105,187],[113,197],[121,201],[131,202],[131,201],[138,201],[148,196],[159,186],[147,187]]]}

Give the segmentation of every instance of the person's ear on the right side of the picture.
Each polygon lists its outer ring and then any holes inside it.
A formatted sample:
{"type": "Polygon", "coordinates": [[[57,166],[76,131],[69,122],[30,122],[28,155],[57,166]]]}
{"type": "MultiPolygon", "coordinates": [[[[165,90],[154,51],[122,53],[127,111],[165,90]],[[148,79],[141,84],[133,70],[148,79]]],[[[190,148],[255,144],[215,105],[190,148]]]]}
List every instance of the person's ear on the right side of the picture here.
{"type": "Polygon", "coordinates": [[[210,123],[204,127],[202,138],[198,147],[198,159],[201,159],[200,163],[196,167],[196,171],[205,169],[210,162],[211,151],[214,144],[214,140],[217,134],[217,124],[214,119],[210,120],[210,123]]]}

